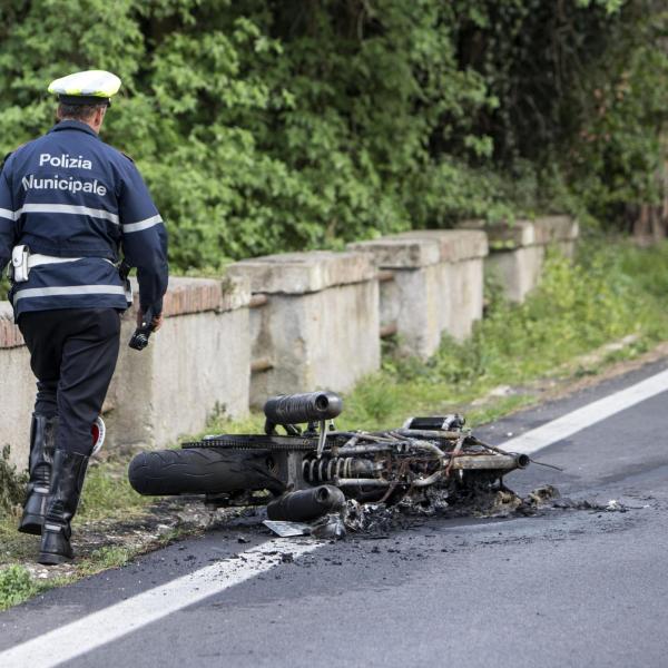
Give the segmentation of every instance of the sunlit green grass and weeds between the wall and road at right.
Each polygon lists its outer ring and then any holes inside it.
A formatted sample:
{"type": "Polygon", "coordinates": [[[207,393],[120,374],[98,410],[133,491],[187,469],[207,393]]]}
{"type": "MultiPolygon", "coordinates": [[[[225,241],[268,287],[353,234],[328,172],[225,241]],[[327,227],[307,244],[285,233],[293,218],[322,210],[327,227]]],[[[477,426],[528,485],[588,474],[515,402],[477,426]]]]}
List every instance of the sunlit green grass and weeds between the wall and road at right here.
{"type": "Polygon", "coordinates": [[[632,344],[610,354],[615,361],[667,337],[668,244],[639,249],[597,238],[579,255],[576,265],[550,255],[540,286],[521,305],[490,286],[485,318],[464,343],[444,340],[428,362],[385,355],[383,371],[347,399],[346,425],[371,429],[399,423],[406,410],[433,414],[462,406],[472,424],[480,423],[536,401],[536,379],[597,371],[569,365],[578,355],[636,334],[632,344]],[[519,392],[492,394],[469,410],[473,400],[509,385],[519,392]]]}

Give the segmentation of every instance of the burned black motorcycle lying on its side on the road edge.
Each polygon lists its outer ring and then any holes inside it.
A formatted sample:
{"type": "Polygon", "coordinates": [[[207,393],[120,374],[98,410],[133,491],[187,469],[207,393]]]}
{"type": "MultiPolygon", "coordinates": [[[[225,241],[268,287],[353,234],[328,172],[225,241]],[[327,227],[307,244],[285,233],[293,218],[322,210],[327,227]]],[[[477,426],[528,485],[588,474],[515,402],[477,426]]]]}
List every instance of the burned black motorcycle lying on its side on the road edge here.
{"type": "Polygon", "coordinates": [[[311,522],[346,500],[456,499],[502,485],[504,474],[530,463],[479,441],[459,414],[409,418],[387,431],[337,431],[333,420],[342,409],[333,392],[272,397],[264,434],[210,435],[180,450],[143,452],[130,462],[130,483],[140,494],[202,494],[213,508],[266,503],[269,520],[311,522]]]}

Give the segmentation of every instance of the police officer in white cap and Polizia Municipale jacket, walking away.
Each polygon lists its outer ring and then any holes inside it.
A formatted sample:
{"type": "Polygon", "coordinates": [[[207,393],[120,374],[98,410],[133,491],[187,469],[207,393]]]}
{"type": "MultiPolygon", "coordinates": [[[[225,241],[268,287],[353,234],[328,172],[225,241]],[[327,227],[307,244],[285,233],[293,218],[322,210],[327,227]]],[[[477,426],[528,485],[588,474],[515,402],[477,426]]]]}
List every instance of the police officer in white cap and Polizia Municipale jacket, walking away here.
{"type": "Polygon", "coordinates": [[[19,531],[41,533],[39,562],[72,558],[70,522],[91,453],[91,425],[116,366],[128,306],[117,265],[137,267],[139,305],[161,324],[167,235],[132,160],[98,132],[120,87],[92,70],[57,79],[58,122],[4,161],[0,271],[30,351],[37,400],[30,482],[19,531]]]}

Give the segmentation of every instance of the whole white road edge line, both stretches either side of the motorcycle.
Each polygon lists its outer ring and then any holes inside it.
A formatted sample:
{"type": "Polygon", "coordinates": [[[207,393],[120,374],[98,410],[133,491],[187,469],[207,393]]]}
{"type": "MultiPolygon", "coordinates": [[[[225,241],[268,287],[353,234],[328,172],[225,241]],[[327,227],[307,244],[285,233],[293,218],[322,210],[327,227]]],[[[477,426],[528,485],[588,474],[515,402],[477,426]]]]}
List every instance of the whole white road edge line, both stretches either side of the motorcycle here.
{"type": "MultiPolygon", "coordinates": [[[[667,390],[668,371],[664,371],[505,441],[503,449],[531,454],[667,390]]],[[[238,559],[207,566],[2,651],[0,666],[53,668],[271,570],[281,562],[281,557],[269,552],[289,551],[298,558],[322,544],[282,538],[269,540],[242,552],[238,559]]]]}

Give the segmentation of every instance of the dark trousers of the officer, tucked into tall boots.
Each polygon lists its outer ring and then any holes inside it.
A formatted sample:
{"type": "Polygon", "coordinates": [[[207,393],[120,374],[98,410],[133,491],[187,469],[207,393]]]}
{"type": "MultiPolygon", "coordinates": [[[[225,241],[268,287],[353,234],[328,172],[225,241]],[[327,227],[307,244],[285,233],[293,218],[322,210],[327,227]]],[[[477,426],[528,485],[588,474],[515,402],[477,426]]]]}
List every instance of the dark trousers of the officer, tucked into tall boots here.
{"type": "Polygon", "coordinates": [[[37,376],[35,412],[58,415],[56,448],[89,455],[118,358],[120,315],[114,308],[36,311],[19,317],[37,376]]]}

